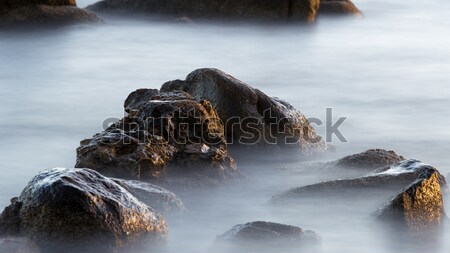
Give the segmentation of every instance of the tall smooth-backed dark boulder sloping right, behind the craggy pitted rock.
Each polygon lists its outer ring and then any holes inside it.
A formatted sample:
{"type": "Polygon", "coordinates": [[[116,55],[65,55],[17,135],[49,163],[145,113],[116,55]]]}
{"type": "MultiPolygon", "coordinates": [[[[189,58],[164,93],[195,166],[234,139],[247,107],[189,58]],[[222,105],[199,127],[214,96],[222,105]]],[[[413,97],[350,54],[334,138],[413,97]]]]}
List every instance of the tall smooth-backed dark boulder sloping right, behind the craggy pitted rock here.
{"type": "Polygon", "coordinates": [[[271,98],[218,70],[198,69],[186,80],[163,84],[161,91],[182,90],[206,99],[225,124],[227,140],[241,147],[291,149],[310,154],[326,149],[306,117],[289,103],[271,98]]]}

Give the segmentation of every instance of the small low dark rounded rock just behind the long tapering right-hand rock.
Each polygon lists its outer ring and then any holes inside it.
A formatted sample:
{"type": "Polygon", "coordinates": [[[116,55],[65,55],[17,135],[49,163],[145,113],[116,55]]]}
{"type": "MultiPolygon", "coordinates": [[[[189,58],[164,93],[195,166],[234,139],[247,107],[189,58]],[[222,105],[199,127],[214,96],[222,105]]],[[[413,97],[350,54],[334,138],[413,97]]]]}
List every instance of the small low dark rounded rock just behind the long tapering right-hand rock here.
{"type": "Polygon", "coordinates": [[[405,160],[403,156],[397,155],[392,150],[369,149],[358,154],[341,158],[333,162],[333,165],[343,168],[374,170],[403,160],[405,160]]]}

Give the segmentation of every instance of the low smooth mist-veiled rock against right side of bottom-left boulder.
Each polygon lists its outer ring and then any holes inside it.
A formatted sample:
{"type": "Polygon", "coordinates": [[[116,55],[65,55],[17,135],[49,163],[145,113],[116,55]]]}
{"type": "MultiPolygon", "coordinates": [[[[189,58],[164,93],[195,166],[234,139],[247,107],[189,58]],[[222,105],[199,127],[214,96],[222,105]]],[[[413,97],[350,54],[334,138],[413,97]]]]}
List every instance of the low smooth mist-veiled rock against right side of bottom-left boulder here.
{"type": "Polygon", "coordinates": [[[113,179],[138,200],[163,214],[183,213],[186,207],[175,193],[160,186],[134,180],[113,179]]]}

